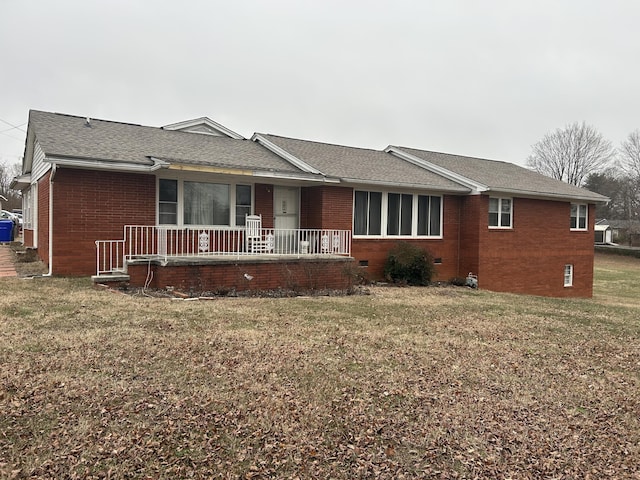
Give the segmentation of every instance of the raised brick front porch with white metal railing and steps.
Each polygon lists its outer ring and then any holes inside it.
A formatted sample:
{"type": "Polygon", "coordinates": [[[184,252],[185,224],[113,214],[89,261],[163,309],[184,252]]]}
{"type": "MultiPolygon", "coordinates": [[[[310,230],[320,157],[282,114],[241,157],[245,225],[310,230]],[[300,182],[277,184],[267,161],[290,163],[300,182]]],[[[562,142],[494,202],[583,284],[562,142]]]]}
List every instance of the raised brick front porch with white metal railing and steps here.
{"type": "Polygon", "coordinates": [[[96,283],[186,291],[346,289],[351,232],[127,225],[96,241],[96,283]]]}

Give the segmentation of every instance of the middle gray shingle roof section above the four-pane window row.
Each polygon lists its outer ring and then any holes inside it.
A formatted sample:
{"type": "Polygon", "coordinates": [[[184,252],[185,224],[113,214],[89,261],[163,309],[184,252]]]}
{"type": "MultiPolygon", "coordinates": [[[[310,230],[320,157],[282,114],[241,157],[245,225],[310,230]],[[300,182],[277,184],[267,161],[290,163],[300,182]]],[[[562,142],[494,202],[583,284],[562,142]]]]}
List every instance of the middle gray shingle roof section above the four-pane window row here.
{"type": "Polygon", "coordinates": [[[260,134],[329,177],[345,182],[393,185],[444,192],[469,189],[391,154],[364,148],[260,134]]]}

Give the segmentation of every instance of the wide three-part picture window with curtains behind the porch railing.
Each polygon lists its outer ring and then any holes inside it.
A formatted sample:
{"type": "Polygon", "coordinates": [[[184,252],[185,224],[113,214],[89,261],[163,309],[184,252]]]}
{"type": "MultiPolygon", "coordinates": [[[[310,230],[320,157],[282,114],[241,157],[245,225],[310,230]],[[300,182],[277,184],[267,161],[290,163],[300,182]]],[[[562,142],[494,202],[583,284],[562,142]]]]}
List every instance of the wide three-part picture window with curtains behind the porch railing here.
{"type": "Polygon", "coordinates": [[[158,223],[242,226],[252,198],[251,185],[160,178],[158,223]]]}

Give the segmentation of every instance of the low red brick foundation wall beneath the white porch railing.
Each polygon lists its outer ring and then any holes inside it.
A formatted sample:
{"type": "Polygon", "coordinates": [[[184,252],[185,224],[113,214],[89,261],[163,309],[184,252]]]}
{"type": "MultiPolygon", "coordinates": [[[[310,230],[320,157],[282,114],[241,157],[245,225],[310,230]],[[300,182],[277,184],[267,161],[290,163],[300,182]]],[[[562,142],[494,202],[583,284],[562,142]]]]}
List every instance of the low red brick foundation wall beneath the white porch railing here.
{"type": "Polygon", "coordinates": [[[194,263],[191,265],[158,266],[137,264],[129,266],[132,286],[141,287],[148,269],[153,272],[151,288],[172,286],[183,292],[221,292],[245,290],[340,289],[351,286],[346,273],[350,259],[287,260],[256,263],[194,263]],[[248,280],[244,275],[253,277],[248,280]]]}

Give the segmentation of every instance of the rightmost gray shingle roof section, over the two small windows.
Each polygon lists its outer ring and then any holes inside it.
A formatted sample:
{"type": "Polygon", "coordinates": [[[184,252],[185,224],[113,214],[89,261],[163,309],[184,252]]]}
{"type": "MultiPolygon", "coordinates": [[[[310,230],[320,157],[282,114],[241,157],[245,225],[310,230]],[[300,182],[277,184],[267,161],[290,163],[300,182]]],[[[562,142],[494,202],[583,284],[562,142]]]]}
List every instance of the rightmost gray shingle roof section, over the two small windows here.
{"type": "Polygon", "coordinates": [[[569,185],[513,163],[430,152],[415,148],[395,148],[486,185],[491,191],[495,192],[561,197],[593,202],[608,200],[607,197],[600,194],[569,185]]]}

